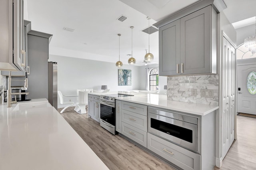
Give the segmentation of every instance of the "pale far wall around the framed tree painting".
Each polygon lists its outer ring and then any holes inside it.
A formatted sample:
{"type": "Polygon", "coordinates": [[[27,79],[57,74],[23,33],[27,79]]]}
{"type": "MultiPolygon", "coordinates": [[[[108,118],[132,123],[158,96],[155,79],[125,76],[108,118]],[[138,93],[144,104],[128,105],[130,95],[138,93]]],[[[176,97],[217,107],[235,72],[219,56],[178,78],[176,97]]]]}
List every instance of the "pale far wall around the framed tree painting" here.
{"type": "Polygon", "coordinates": [[[76,93],[76,89],[100,90],[108,85],[110,91],[124,91],[140,88],[138,66],[123,65],[121,69],[132,70],[132,85],[118,86],[118,67],[115,63],[49,55],[48,61],[58,63],[58,90],[62,93],[76,93]]]}

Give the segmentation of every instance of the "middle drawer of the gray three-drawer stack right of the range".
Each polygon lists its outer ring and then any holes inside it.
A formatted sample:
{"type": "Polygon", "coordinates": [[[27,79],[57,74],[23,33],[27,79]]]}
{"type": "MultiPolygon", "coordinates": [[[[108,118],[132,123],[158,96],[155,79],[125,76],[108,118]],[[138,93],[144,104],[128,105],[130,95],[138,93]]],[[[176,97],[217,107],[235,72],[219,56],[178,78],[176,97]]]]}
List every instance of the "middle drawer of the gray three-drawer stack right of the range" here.
{"type": "Polygon", "coordinates": [[[147,117],[122,109],[122,122],[147,131],[147,117]]]}

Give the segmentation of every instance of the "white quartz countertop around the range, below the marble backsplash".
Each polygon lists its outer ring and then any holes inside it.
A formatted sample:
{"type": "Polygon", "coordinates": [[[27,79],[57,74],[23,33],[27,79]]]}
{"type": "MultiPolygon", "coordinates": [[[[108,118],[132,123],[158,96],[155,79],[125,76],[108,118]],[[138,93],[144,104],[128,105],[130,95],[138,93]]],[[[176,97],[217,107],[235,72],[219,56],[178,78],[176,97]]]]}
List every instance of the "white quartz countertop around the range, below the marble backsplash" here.
{"type": "Polygon", "coordinates": [[[171,100],[167,100],[167,95],[160,95],[160,94],[154,94],[154,93],[109,91],[106,93],[96,92],[96,93],[89,93],[89,94],[111,95],[111,94],[117,94],[117,93],[134,95],[134,96],[128,96],[128,97],[117,97],[116,98],[117,100],[128,101],[132,103],[138,103],[138,104],[148,105],[153,107],[159,107],[162,109],[170,109],[170,110],[180,111],[180,112],[189,113],[193,115],[204,116],[219,108],[218,106],[213,106],[213,105],[187,103],[182,101],[171,101],[171,100]]]}

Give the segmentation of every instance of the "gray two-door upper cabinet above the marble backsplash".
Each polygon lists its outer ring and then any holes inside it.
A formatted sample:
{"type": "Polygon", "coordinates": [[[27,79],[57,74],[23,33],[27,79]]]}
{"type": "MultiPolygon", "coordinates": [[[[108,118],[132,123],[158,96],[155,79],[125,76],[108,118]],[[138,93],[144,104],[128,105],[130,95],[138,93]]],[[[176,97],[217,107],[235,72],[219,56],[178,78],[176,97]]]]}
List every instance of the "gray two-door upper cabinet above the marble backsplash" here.
{"type": "Polygon", "coordinates": [[[211,5],[159,28],[159,75],[217,73],[217,13],[211,5]]]}

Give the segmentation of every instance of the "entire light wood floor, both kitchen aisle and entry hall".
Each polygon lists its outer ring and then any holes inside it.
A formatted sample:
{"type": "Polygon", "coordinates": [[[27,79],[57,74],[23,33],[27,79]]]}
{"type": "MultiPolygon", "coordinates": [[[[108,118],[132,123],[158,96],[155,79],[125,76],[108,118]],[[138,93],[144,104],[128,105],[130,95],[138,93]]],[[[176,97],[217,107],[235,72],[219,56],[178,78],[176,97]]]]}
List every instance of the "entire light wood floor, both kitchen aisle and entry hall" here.
{"type": "MultiPolygon", "coordinates": [[[[128,140],[112,135],[87,114],[68,109],[61,115],[110,170],[174,170],[128,140]]],[[[214,170],[256,170],[256,119],[237,116],[237,136],[222,167],[214,170]]]]}

